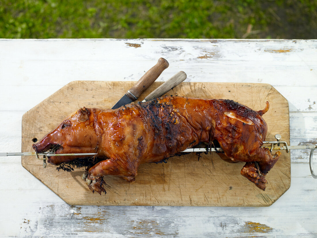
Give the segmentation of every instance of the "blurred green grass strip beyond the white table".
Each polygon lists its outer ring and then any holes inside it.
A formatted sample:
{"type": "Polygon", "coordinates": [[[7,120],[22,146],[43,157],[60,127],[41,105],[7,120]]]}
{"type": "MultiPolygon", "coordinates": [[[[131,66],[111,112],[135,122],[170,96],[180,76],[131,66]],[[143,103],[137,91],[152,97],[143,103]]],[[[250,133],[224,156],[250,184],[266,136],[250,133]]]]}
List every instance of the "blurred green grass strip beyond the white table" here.
{"type": "Polygon", "coordinates": [[[0,38],[317,38],[317,0],[0,0],[0,38]]]}

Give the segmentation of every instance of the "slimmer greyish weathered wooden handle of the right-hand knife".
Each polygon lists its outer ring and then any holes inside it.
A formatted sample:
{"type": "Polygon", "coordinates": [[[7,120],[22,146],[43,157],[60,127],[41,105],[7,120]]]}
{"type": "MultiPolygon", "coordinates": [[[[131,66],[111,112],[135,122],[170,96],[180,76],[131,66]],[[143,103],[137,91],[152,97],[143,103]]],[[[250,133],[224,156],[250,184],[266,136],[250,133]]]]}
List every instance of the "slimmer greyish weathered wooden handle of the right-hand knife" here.
{"type": "Polygon", "coordinates": [[[179,71],[177,74],[172,76],[169,80],[167,80],[165,83],[163,83],[161,86],[159,86],[157,89],[155,89],[152,93],[146,96],[145,100],[151,100],[153,98],[158,98],[164,93],[167,93],[170,91],[173,87],[177,86],[181,82],[183,82],[186,79],[187,75],[183,71],[179,71]]]}

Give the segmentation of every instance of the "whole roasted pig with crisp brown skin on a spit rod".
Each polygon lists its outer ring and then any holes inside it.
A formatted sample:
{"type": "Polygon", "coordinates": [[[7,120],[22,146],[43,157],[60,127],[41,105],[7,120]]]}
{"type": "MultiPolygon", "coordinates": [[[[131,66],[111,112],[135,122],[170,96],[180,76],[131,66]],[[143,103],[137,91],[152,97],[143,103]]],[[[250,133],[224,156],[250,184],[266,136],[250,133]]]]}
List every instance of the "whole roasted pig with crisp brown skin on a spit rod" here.
{"type": "MultiPolygon", "coordinates": [[[[55,153],[97,152],[101,162],[88,171],[87,185],[101,193],[102,177],[131,182],[142,163],[159,162],[201,142],[217,140],[221,158],[247,162],[241,174],[265,190],[265,175],[280,156],[261,148],[268,110],[253,111],[232,100],[162,97],[116,110],[83,108],[33,145],[37,152],[61,145],[55,153]],[[260,171],[259,171],[260,170],[260,171]],[[91,182],[92,181],[92,182],[91,182]]],[[[73,160],[50,157],[51,164],[73,160]]]]}

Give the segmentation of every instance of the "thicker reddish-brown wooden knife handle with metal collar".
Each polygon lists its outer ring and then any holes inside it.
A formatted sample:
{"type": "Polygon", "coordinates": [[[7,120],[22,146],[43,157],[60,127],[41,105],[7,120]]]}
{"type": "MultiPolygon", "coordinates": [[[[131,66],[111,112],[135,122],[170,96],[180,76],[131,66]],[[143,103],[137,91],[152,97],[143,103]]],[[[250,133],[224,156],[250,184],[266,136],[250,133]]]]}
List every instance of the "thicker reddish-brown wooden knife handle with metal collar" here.
{"type": "Polygon", "coordinates": [[[130,98],[132,101],[135,101],[141,93],[143,93],[150,85],[160,76],[160,74],[163,72],[164,69],[166,69],[169,66],[167,60],[163,58],[159,58],[159,61],[156,65],[154,65],[152,68],[147,71],[142,78],[139,79],[139,81],[130,88],[126,93],[126,96],[130,98]],[[133,97],[133,95],[135,97],[133,97]]]}

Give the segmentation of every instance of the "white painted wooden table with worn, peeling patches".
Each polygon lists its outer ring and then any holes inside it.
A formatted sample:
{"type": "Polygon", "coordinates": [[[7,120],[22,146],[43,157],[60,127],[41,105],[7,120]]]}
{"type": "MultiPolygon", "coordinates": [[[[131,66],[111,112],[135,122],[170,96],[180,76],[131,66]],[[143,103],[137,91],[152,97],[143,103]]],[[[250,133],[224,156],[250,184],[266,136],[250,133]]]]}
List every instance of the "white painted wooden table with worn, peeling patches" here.
{"type": "MultiPolygon", "coordinates": [[[[170,63],[159,81],[183,70],[271,84],[289,102],[291,145],[317,144],[317,40],[0,40],[0,152],[21,151],[22,115],[70,81],[137,81],[159,57],[170,63]]],[[[20,157],[1,157],[0,236],[316,237],[308,153],[291,151],[291,187],[264,208],[70,206],[20,157]]]]}

